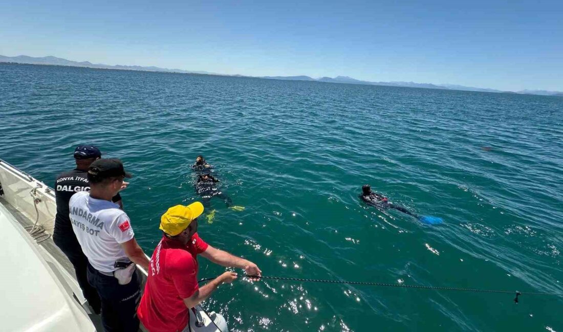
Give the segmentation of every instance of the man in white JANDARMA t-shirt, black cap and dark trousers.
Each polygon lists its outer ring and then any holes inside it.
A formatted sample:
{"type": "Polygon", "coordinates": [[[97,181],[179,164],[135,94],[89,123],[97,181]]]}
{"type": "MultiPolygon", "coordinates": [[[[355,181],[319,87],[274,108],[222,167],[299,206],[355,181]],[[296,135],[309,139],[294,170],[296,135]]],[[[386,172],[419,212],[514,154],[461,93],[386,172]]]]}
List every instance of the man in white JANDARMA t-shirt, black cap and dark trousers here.
{"type": "Polygon", "coordinates": [[[149,260],[135,240],[127,213],[111,201],[123,179],[132,175],[117,159],[98,159],[88,167],[87,176],[90,193],[70,198],[69,217],[88,257],[88,283],[100,295],[105,331],[137,331],[141,279],[135,263],[148,269],[149,260]]]}

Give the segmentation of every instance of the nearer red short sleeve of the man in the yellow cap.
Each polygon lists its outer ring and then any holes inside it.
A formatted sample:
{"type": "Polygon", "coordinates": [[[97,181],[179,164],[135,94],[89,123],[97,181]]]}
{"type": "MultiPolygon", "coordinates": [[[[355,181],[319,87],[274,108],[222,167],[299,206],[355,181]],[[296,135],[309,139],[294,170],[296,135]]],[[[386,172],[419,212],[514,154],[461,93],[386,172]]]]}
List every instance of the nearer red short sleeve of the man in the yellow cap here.
{"type": "Polygon", "coordinates": [[[199,289],[195,272],[194,257],[189,252],[178,249],[168,252],[166,270],[181,298],[189,298],[199,289]]]}

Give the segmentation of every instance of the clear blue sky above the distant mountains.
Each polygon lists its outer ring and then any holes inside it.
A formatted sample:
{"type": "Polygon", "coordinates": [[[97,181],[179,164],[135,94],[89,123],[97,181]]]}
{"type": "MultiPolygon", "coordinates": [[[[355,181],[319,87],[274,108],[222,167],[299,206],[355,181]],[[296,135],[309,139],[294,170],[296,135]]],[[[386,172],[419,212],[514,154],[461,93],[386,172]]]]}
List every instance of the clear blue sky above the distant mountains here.
{"type": "Polygon", "coordinates": [[[563,1],[0,0],[0,54],[563,91],[563,1]]]}

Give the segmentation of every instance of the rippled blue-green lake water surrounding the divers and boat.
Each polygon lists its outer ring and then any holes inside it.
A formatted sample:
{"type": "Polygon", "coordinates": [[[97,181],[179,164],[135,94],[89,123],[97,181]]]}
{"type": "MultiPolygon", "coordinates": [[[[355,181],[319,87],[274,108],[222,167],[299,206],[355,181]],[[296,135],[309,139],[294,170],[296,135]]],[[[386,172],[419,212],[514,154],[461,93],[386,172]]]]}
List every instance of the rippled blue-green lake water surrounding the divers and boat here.
{"type": "MultiPolygon", "coordinates": [[[[78,144],[121,158],[150,255],[203,154],[245,210],[213,199],[200,236],[267,276],[563,293],[562,125],[558,97],[0,65],[0,158],[50,185],[78,144]]],[[[204,307],[231,331],[563,331],[563,297],[513,297],[241,280],[204,307]]]]}

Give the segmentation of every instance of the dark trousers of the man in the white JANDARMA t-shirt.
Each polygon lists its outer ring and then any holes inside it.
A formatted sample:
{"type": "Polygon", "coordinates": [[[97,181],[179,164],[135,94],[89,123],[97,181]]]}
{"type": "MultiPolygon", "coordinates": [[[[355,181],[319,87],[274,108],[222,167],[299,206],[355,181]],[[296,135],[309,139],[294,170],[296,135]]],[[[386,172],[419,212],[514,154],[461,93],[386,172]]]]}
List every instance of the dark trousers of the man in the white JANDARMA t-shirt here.
{"type": "Polygon", "coordinates": [[[106,332],[137,332],[137,304],[141,299],[141,278],[138,270],[127,285],[120,285],[114,276],[101,274],[88,264],[88,282],[101,298],[102,324],[106,332]]]}

